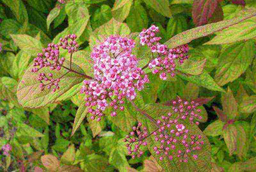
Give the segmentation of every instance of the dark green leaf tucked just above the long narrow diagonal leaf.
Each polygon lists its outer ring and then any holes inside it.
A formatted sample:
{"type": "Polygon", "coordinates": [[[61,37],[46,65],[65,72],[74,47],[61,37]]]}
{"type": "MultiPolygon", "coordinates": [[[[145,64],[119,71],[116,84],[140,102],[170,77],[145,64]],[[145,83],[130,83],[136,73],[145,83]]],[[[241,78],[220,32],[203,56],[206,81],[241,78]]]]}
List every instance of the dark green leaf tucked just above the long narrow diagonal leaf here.
{"type": "Polygon", "coordinates": [[[166,32],[168,39],[188,29],[187,19],[183,15],[176,15],[170,18],[166,32]]]}

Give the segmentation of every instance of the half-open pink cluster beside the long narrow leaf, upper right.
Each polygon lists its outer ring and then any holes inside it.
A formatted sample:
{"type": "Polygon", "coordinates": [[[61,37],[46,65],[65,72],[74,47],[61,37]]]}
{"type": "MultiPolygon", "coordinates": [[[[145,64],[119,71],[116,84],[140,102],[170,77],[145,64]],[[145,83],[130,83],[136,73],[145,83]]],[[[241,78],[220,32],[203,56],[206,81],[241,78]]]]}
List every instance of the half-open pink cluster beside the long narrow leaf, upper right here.
{"type": "Polygon", "coordinates": [[[149,69],[153,69],[152,73],[160,73],[160,78],[167,79],[166,72],[175,76],[175,60],[179,59],[180,64],[184,63],[185,59],[188,59],[188,45],[181,45],[177,48],[169,49],[167,45],[159,43],[161,37],[157,37],[159,32],[158,27],[152,25],[148,29],[143,29],[140,32],[140,44],[147,45],[151,51],[157,52],[157,58],[151,59],[148,64],[149,69]]]}

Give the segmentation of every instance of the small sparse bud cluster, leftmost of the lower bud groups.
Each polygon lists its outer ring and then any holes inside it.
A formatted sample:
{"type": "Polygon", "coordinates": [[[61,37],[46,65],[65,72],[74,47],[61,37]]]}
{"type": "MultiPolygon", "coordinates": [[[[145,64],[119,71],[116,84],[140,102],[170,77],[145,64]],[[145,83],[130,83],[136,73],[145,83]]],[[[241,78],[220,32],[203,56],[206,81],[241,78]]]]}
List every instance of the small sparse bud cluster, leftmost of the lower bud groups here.
{"type": "Polygon", "coordinates": [[[148,137],[148,129],[142,128],[142,123],[139,122],[138,126],[133,126],[129,135],[126,135],[124,142],[128,142],[127,147],[128,154],[134,159],[135,156],[140,157],[144,152],[141,150],[141,146],[147,146],[148,143],[145,140],[148,137]]]}

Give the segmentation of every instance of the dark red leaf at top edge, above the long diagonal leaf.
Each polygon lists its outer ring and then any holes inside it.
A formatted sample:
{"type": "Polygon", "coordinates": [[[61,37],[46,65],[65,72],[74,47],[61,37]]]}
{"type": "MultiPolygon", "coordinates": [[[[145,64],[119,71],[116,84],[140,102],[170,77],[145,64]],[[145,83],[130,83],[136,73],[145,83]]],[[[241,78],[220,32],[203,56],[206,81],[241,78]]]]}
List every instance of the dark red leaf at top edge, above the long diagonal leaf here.
{"type": "Polygon", "coordinates": [[[196,26],[223,20],[223,11],[219,0],[195,0],[192,18],[196,26]]]}

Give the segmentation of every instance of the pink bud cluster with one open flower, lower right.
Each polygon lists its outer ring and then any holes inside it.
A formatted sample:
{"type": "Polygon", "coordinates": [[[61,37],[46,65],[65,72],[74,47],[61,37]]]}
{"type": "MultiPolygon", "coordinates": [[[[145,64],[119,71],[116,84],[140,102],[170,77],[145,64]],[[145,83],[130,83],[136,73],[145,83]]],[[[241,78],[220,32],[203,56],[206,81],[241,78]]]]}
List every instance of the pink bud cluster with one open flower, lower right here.
{"type": "Polygon", "coordinates": [[[188,135],[189,130],[178,122],[178,119],[170,120],[172,116],[168,113],[166,116],[162,116],[157,120],[159,129],[153,132],[155,141],[160,146],[155,146],[153,150],[159,155],[159,160],[163,160],[164,157],[168,157],[170,160],[177,156],[180,162],[188,162],[188,155],[194,159],[197,159],[196,150],[201,149],[203,141],[199,141],[202,136],[188,135]],[[190,140],[189,140],[190,139],[190,140]],[[183,150],[179,149],[175,151],[177,147],[183,147],[183,150]]]}

